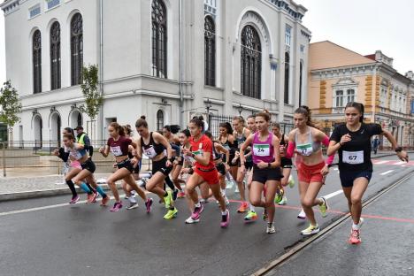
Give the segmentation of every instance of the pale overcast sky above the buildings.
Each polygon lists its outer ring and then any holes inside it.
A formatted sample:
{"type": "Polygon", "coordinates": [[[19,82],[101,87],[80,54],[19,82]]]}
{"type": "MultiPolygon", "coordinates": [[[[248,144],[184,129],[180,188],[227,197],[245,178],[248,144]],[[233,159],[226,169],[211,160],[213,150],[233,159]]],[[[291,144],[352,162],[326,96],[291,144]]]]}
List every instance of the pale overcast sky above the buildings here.
{"type": "MultiPolygon", "coordinates": [[[[329,40],[362,55],[381,50],[399,73],[414,71],[414,1],[295,0],[309,11],[311,42],[329,40]]],[[[0,14],[0,84],[5,75],[4,15],[0,14]]]]}

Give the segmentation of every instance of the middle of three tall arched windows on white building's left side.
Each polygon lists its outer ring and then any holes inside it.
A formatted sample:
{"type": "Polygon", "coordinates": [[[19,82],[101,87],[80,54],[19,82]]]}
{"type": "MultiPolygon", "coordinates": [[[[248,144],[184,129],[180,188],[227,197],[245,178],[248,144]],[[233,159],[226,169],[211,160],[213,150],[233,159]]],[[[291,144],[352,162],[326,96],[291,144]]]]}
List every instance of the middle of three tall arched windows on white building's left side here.
{"type": "Polygon", "coordinates": [[[50,27],[50,80],[51,89],[60,88],[60,24],[50,27]]]}

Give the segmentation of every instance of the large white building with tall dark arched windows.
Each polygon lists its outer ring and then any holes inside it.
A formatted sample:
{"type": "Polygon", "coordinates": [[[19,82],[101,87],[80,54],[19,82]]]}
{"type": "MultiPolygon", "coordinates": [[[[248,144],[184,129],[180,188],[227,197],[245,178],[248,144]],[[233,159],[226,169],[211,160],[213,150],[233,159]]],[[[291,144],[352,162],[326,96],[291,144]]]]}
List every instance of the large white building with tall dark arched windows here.
{"type": "MultiPolygon", "coordinates": [[[[58,140],[112,120],[186,126],[194,113],[291,122],[306,103],[310,31],[291,0],[6,0],[7,79],[23,104],[15,140],[58,140]],[[102,112],[80,114],[80,65],[99,66],[102,112]]],[[[93,128],[93,129],[92,129],[93,128]]]]}

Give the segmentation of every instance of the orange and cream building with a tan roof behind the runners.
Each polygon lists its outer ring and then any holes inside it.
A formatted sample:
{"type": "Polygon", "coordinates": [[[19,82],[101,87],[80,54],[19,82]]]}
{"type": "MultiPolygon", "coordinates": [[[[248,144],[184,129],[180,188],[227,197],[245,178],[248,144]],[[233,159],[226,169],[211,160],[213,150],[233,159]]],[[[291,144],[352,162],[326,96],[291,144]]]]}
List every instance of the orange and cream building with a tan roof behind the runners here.
{"type": "MultiPolygon", "coordinates": [[[[403,146],[414,145],[413,73],[398,73],[380,50],[362,56],[333,42],[310,44],[308,103],[326,131],[344,121],[344,106],[364,103],[367,122],[379,123],[403,146]]],[[[390,147],[384,141],[383,147],[390,147]]]]}

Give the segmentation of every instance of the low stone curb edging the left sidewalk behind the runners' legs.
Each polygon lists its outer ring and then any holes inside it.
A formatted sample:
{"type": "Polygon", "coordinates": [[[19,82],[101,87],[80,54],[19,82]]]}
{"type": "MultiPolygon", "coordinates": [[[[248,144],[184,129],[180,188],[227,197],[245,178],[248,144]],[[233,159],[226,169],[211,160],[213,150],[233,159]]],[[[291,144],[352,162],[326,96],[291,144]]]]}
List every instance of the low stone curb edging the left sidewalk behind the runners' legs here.
{"type": "MultiPolygon", "coordinates": [[[[110,190],[107,184],[98,184],[98,185],[101,186],[104,191],[110,190]]],[[[122,188],[122,184],[117,183],[117,188],[118,189],[122,188]]],[[[76,191],[79,194],[85,194],[85,192],[81,188],[76,188],[76,191]]],[[[13,201],[13,200],[19,200],[19,199],[48,197],[48,196],[64,196],[64,195],[72,195],[71,190],[66,187],[66,188],[54,188],[54,189],[46,189],[46,190],[0,194],[0,202],[13,201]]]]}

